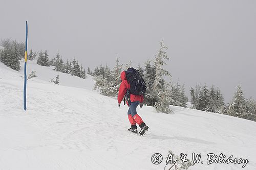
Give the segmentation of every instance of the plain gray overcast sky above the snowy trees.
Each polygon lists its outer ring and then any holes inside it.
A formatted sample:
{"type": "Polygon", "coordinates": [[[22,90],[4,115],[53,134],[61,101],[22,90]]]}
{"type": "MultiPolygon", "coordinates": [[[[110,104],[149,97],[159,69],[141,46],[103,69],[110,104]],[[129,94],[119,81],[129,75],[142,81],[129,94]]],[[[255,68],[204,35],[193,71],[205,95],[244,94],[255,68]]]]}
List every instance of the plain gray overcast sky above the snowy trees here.
{"type": "Polygon", "coordinates": [[[239,83],[256,99],[256,1],[11,1],[0,0],[0,38],[28,48],[59,50],[94,68],[115,56],[133,66],[154,59],[159,41],[168,46],[173,80],[220,87],[229,102],[239,83]]]}

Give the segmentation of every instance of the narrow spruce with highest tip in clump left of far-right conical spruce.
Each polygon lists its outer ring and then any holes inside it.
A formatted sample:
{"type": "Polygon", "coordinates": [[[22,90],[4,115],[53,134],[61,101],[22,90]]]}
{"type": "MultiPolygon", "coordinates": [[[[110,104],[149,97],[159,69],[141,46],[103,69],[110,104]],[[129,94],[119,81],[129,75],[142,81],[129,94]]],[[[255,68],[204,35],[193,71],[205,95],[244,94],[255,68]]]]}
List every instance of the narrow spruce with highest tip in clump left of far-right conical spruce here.
{"type": "Polygon", "coordinates": [[[201,93],[199,94],[199,99],[198,99],[198,109],[207,111],[207,106],[209,104],[209,89],[207,88],[206,84],[203,86],[201,93]]]}

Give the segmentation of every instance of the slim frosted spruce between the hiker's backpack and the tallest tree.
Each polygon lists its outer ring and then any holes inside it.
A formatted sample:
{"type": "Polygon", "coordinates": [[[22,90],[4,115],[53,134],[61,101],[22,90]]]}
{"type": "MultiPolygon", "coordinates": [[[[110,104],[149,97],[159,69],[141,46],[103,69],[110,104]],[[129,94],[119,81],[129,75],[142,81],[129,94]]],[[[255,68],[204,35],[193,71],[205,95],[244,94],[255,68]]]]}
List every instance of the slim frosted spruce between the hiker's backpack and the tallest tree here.
{"type": "Polygon", "coordinates": [[[144,95],[144,104],[147,106],[155,106],[156,104],[156,96],[153,94],[153,83],[155,82],[156,78],[156,66],[151,65],[151,60],[147,60],[145,62],[145,69],[144,69],[144,81],[146,83],[147,90],[144,95]]]}

